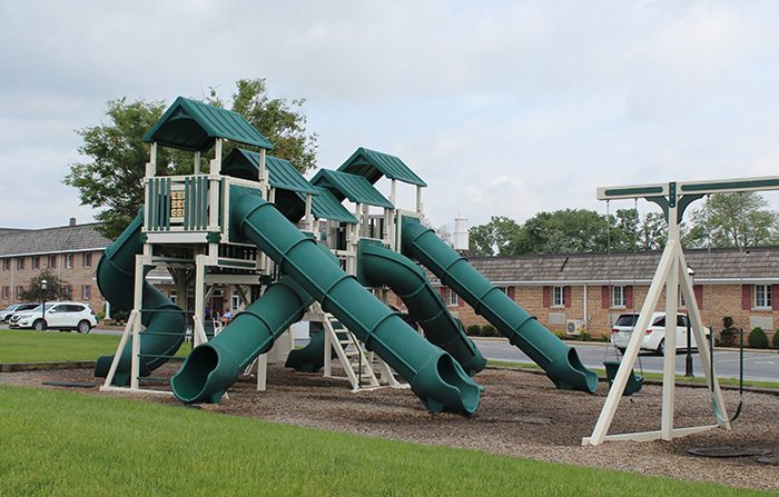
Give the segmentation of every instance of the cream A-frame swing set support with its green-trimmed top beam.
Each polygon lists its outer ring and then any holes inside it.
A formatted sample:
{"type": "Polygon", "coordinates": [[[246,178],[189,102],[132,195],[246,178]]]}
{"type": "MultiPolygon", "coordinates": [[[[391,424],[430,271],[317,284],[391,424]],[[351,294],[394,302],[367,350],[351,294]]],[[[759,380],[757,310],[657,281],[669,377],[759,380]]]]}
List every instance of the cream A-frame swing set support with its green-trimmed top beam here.
{"type": "Polygon", "coordinates": [[[644,198],[658,203],[665,213],[668,221],[668,242],[660,258],[658,269],[654,272],[649,292],[641,307],[639,319],[633,328],[633,334],[628,342],[622,362],[617,372],[617,377],[609,390],[609,395],[603,404],[603,409],[598,418],[592,435],[582,438],[582,445],[601,445],[605,440],[671,440],[676,437],[690,435],[710,428],[721,427],[730,429],[728,412],[722,398],[717,375],[713,374],[711,356],[709,354],[709,342],[706,338],[700,309],[694,298],[692,280],[687,271],[687,261],[680,239],[679,223],[681,222],[684,209],[694,200],[710,193],[726,193],[737,191],[763,191],[778,190],[779,177],[726,179],[714,181],[688,181],[653,183],[627,187],[608,187],[598,189],[599,200],[635,199],[644,198]],[[657,307],[661,291],[665,288],[665,351],[663,356],[663,379],[662,379],[662,411],[659,431],[642,431],[632,434],[608,435],[611,423],[617,414],[622,391],[628,378],[632,375],[635,360],[639,357],[641,340],[647,329],[652,312],[657,307]],[[687,302],[688,314],[692,334],[698,345],[699,356],[706,371],[706,381],[711,390],[711,407],[717,419],[716,425],[694,426],[688,428],[673,427],[674,396],[676,396],[676,359],[677,359],[677,304],[679,291],[687,302]]]}

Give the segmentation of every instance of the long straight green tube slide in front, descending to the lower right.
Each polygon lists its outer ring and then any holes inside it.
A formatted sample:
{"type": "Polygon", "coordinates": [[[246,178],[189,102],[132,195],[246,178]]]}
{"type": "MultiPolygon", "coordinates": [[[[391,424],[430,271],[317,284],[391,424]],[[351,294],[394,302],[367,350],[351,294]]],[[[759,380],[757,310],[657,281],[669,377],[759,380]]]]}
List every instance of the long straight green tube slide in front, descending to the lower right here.
{"type": "Polygon", "coordinates": [[[250,193],[236,195],[230,201],[230,226],[406,379],[428,410],[476,410],[482,388],[452,356],[422,338],[344,272],[273,203],[250,193]]]}

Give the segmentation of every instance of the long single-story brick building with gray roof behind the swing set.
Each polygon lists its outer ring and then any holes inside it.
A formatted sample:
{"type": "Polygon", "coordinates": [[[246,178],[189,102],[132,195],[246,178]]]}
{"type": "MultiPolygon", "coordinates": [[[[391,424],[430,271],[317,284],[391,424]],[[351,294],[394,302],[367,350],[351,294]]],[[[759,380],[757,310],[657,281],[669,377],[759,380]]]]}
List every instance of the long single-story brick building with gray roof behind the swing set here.
{"type": "MultiPolygon", "coordinates": [[[[605,336],[620,314],[641,310],[660,255],[474,257],[470,261],[551,330],[564,332],[573,321],[593,336],[605,336]]],[[[730,316],[736,327],[760,326],[769,337],[779,327],[779,247],[688,250],[686,258],[694,271],[696,299],[707,326],[720,329],[722,318],[730,316]]],[[[486,324],[435,277],[431,279],[465,326],[486,324]]],[[[663,292],[658,310],[664,309],[664,302],[663,292]]]]}

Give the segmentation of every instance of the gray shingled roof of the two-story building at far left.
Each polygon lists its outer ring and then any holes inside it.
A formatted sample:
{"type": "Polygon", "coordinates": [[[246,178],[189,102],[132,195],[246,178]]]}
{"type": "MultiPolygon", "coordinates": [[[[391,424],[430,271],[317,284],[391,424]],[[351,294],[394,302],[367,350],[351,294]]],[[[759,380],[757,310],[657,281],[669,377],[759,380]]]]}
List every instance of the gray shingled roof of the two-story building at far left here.
{"type": "Polygon", "coordinates": [[[0,257],[102,249],[111,242],[97,222],[58,228],[0,232],[0,257]]]}

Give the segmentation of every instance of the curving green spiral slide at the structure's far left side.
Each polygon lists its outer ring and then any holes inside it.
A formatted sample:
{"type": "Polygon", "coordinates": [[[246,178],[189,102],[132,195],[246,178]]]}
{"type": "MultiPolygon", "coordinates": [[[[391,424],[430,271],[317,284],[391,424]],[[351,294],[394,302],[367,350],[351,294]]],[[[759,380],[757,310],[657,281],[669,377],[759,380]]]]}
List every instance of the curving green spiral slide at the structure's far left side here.
{"type": "MultiPolygon", "coordinates": [[[[141,241],[141,212],[130,222],[119,238],[106,248],[97,267],[97,284],[106,300],[115,310],[131,310],[135,295],[136,255],[144,250],[141,241]]],[[[151,285],[144,282],[140,321],[146,330],[140,334],[140,375],[148,376],[168,361],[184,341],[187,320],[184,311],[151,285]]],[[[121,351],[114,376],[114,385],[128,386],[132,354],[132,339],[121,351]]],[[[105,378],[111,368],[114,356],[98,357],[95,376],[105,378]]]]}

